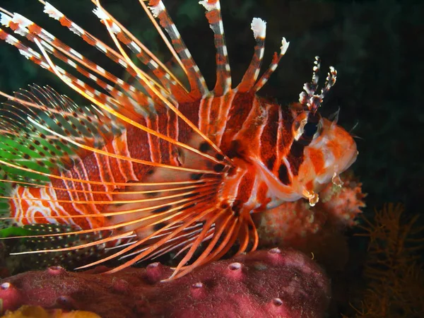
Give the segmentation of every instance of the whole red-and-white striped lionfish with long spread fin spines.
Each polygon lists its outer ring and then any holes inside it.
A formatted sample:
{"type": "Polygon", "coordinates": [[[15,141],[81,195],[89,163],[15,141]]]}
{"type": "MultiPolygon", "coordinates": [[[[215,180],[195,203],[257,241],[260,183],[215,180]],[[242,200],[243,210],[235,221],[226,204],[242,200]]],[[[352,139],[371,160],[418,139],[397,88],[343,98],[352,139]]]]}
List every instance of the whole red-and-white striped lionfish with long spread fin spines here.
{"type": "Polygon", "coordinates": [[[1,93],[8,98],[0,117],[2,219],[44,228],[26,236],[38,239],[40,248],[16,254],[102,247],[111,254],[78,269],[124,259],[108,271],[113,273],[172,252],[182,259],[169,279],[178,278],[223,257],[232,246],[237,254],[256,249],[252,213],[301,198],[313,206],[322,186],[340,185],[338,175],[355,161],[352,136],[318,111],[336,82],[333,67],[319,92],[316,57],[312,81],[290,107],[260,97],[257,92],[289,42],[283,37],[281,52],[259,78],[266,22],[253,18],[254,55],[232,88],[220,2],[204,0],[199,4],[216,47],[216,83],[210,90],[163,2],[145,1],[139,0],[141,7],[188,84],[99,0],[93,0],[93,12],[114,47],[41,2],[51,18],[122,66],[128,80],[28,18],[1,9],[6,27],[1,40],[88,101],[76,105],[50,87],[35,85],[13,96],[1,93]],[[61,245],[64,236],[81,238],[61,245]],[[47,239],[52,247],[43,249],[47,239]]]}

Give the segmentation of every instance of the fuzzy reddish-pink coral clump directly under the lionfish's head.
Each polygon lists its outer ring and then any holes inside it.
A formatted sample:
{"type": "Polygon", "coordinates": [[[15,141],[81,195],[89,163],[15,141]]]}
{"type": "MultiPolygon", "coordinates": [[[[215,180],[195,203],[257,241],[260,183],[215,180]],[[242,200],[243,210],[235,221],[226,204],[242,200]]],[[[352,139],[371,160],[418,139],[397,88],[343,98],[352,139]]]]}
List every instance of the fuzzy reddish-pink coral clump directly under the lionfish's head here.
{"type": "Polygon", "coordinates": [[[326,184],[315,206],[298,200],[255,215],[261,247],[294,247],[314,254],[324,266],[342,268],[348,257],[342,233],[355,225],[366,194],[353,172],[340,177],[343,185],[326,184]]]}

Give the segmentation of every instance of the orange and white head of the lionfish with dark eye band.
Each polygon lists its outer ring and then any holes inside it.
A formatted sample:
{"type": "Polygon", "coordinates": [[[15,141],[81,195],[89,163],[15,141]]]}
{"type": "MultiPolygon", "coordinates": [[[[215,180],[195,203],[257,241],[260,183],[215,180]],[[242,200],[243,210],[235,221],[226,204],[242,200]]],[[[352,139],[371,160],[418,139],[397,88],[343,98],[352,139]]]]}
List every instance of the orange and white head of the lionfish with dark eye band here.
{"type": "Polygon", "coordinates": [[[298,170],[292,169],[293,189],[314,205],[325,184],[342,185],[338,176],[355,162],[356,143],[337,120],[322,118],[319,112],[300,112],[292,129],[292,149],[298,148],[301,157],[298,170]]]}

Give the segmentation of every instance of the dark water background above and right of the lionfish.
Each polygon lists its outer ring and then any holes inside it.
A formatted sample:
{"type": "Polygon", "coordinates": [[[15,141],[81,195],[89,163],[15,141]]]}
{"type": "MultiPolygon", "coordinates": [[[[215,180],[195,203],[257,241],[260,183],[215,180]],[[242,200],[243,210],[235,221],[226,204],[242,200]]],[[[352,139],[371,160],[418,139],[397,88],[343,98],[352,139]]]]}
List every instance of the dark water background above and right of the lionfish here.
{"type": "MultiPolygon", "coordinates": [[[[163,0],[190,52],[206,77],[215,81],[213,33],[196,0],[163,0]]],[[[105,28],[91,13],[88,0],[50,1],[71,20],[111,44],[105,28]]],[[[406,215],[423,214],[424,200],[424,1],[275,1],[222,0],[233,86],[243,76],[253,54],[253,17],[267,21],[266,69],[281,37],[290,41],[276,73],[260,91],[287,105],[298,100],[310,81],[314,56],[322,59],[324,81],[330,65],[338,71],[336,86],[326,97],[322,114],[340,108],[339,124],[354,126],[358,136],[355,175],[367,193],[364,214],[386,202],[402,202],[406,215]]],[[[57,21],[42,13],[37,1],[0,0],[44,26],[68,45],[119,76],[122,69],[86,45],[57,21]]],[[[157,33],[136,0],[104,0],[102,4],[143,40],[163,61],[169,61],[157,33]]],[[[16,49],[0,44],[0,90],[11,93],[30,83],[48,84],[83,103],[48,71],[33,66],[16,49]]],[[[423,224],[421,217],[418,223],[423,224]]],[[[359,243],[362,244],[362,243],[359,243]]]]}

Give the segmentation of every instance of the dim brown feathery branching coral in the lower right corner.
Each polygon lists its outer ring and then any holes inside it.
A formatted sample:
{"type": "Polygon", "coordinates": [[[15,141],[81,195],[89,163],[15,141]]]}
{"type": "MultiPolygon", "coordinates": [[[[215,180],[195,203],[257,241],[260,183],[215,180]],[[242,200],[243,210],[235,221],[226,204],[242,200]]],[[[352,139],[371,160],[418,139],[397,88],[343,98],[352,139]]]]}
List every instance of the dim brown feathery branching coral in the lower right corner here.
{"type": "Polygon", "coordinates": [[[405,218],[402,204],[387,204],[365,219],[362,236],[370,238],[365,263],[367,290],[356,317],[424,317],[422,255],[424,227],[418,215],[405,218]],[[421,263],[421,264],[420,264],[421,263]]]}

